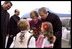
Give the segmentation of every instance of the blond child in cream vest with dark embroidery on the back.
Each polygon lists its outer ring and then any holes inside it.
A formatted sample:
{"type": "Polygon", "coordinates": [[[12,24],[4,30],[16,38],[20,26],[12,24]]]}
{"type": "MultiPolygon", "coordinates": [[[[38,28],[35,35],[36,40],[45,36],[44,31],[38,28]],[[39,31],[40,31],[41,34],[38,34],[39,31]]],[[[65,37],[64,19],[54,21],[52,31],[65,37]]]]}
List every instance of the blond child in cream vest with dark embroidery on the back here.
{"type": "Polygon", "coordinates": [[[14,37],[10,48],[35,48],[35,38],[28,31],[29,22],[27,22],[27,20],[20,20],[18,22],[18,27],[21,32],[14,37]]]}

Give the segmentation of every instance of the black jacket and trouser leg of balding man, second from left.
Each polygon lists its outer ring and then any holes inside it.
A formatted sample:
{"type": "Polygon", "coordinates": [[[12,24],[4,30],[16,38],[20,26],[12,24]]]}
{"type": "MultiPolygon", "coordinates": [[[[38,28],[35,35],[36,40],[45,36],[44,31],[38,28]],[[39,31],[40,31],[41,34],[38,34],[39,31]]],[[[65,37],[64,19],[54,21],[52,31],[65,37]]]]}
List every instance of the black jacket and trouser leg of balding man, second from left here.
{"type": "Polygon", "coordinates": [[[9,20],[9,23],[8,23],[9,38],[8,38],[7,48],[10,47],[10,45],[13,41],[13,37],[16,36],[16,34],[20,32],[20,29],[17,26],[17,23],[19,20],[20,20],[20,18],[17,15],[11,16],[11,18],[9,20]],[[13,36],[11,36],[11,35],[13,35],[13,36]]]}

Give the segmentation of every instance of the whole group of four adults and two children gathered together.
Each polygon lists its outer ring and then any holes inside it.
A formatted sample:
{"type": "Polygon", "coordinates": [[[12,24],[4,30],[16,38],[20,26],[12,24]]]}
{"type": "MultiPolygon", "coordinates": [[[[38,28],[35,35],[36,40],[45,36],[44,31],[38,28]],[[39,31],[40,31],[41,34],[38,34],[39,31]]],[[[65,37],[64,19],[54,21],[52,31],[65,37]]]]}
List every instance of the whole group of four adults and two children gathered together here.
{"type": "Polygon", "coordinates": [[[18,9],[10,17],[7,10],[12,5],[5,1],[1,6],[1,48],[5,48],[6,36],[6,48],[61,48],[62,23],[56,14],[41,7],[30,12],[32,20],[28,21],[20,19],[18,9]]]}

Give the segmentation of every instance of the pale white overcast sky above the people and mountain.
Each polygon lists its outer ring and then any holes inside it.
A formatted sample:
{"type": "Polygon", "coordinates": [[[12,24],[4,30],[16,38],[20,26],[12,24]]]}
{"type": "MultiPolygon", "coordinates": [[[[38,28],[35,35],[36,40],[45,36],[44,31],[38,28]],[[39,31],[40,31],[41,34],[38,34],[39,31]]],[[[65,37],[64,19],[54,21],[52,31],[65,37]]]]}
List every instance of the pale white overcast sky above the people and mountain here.
{"type": "MultiPolygon", "coordinates": [[[[1,1],[1,5],[4,1],[1,1]]],[[[47,7],[55,13],[71,14],[70,1],[11,1],[13,6],[8,12],[10,16],[14,14],[15,9],[20,10],[20,17],[25,13],[31,12],[33,9],[47,7]]]]}

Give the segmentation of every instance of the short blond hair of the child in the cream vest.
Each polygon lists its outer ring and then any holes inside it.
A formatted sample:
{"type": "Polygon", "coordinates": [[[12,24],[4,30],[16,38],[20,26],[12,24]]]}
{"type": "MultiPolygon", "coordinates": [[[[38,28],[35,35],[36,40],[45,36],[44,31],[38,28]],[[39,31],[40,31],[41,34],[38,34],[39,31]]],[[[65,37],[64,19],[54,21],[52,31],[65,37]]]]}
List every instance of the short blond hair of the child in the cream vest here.
{"type": "Polygon", "coordinates": [[[28,30],[30,28],[29,22],[26,19],[21,19],[18,22],[18,27],[20,28],[20,30],[28,30]]]}

